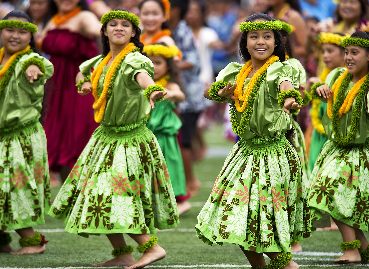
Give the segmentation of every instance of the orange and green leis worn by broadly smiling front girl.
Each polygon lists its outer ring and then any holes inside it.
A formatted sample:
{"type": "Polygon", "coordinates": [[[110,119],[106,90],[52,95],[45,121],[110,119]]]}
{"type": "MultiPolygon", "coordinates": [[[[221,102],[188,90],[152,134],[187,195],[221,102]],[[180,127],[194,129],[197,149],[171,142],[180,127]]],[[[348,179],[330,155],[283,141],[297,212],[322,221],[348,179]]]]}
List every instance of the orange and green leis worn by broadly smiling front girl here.
{"type": "Polygon", "coordinates": [[[234,91],[235,100],[234,103],[231,104],[230,109],[232,129],[236,134],[242,134],[243,132],[245,132],[246,127],[249,123],[249,119],[251,117],[252,110],[254,108],[255,97],[258,94],[260,86],[265,80],[266,70],[272,63],[276,61],[279,61],[279,57],[272,55],[268,59],[268,61],[266,61],[264,65],[258,71],[256,71],[256,73],[254,74],[254,76],[252,76],[250,82],[248,83],[244,94],[242,94],[242,90],[245,84],[245,80],[252,70],[251,60],[246,62],[241,71],[238,73],[237,87],[234,91]],[[239,101],[244,102],[242,106],[240,106],[239,101]],[[239,113],[242,113],[241,121],[237,120],[237,111],[239,113]]]}

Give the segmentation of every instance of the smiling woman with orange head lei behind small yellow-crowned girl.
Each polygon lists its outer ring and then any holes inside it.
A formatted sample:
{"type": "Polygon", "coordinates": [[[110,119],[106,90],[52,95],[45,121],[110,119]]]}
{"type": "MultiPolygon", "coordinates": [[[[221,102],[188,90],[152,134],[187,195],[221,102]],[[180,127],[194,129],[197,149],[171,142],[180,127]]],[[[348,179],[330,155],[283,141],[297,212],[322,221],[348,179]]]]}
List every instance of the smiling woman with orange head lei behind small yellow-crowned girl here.
{"type": "Polygon", "coordinates": [[[170,3],[168,0],[144,0],[139,4],[140,20],[144,28],[141,42],[145,45],[153,43],[165,43],[168,46],[175,45],[170,37],[169,17],[170,3]]]}

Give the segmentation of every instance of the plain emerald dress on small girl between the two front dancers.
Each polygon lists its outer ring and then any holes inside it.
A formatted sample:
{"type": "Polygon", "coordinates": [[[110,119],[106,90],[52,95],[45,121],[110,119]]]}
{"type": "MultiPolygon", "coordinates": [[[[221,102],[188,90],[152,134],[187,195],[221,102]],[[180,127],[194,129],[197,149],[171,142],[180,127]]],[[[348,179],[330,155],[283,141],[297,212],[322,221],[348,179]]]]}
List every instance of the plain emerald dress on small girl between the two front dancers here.
{"type": "Polygon", "coordinates": [[[186,196],[187,190],[182,154],[177,140],[178,130],[182,127],[182,121],[174,112],[175,108],[176,105],[168,99],[156,103],[154,110],[151,111],[147,128],[158,139],[168,166],[173,192],[177,197],[180,195],[186,196]]]}

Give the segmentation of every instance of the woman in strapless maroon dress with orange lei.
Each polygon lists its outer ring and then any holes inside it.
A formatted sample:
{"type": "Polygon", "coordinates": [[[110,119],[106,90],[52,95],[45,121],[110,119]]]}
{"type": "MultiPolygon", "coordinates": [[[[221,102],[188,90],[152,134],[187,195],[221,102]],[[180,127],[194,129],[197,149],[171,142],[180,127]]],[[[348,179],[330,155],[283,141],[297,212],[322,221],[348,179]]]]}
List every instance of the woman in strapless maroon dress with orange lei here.
{"type": "MultiPolygon", "coordinates": [[[[50,55],[54,76],[46,88],[44,129],[50,169],[64,181],[98,124],[90,98],[77,94],[79,65],[96,56],[93,41],[101,23],[86,9],[85,0],[55,0],[57,12],[41,33],[42,51],[50,55]]],[[[53,9],[53,8],[52,8],[53,9]]]]}

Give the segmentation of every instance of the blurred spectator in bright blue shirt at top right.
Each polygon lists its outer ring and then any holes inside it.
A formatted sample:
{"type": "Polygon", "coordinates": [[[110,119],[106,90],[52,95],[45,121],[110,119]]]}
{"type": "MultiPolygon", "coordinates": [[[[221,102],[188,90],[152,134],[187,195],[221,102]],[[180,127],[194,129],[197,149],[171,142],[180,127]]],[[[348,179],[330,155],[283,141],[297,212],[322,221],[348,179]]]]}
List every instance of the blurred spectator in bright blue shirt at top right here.
{"type": "Polygon", "coordinates": [[[304,19],[315,17],[319,21],[332,17],[336,8],[333,0],[299,0],[304,19]]]}

